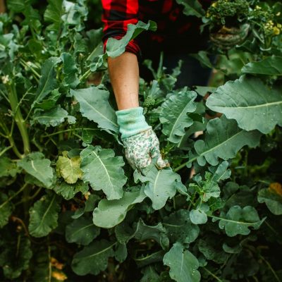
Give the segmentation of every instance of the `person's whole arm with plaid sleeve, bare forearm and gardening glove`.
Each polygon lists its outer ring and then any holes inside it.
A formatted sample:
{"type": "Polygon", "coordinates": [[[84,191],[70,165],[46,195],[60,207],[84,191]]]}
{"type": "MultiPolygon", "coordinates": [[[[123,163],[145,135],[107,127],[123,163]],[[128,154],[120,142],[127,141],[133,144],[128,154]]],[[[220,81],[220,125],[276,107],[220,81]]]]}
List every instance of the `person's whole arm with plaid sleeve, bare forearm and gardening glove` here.
{"type": "MultiPolygon", "coordinates": [[[[109,37],[121,39],[129,23],[137,23],[138,1],[136,0],[102,0],[104,22],[104,44],[109,37]]],[[[125,53],[116,58],[108,58],[111,85],[116,97],[116,111],[119,132],[125,157],[130,166],[145,173],[152,159],[157,159],[157,166],[169,166],[161,157],[159,140],[148,125],[139,106],[139,66],[137,54],[140,49],[134,40],[128,43],[125,53]]]]}

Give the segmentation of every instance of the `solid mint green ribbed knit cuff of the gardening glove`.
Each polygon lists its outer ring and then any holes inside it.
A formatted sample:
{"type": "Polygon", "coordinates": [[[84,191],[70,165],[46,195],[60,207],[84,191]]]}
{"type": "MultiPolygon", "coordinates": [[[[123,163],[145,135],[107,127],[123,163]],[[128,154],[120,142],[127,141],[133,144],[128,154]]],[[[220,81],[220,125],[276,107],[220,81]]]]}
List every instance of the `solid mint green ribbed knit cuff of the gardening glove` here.
{"type": "Polygon", "coordinates": [[[116,111],[116,116],[118,118],[121,139],[128,138],[152,128],[152,126],[149,126],[147,121],[145,121],[142,106],[116,111]]]}

